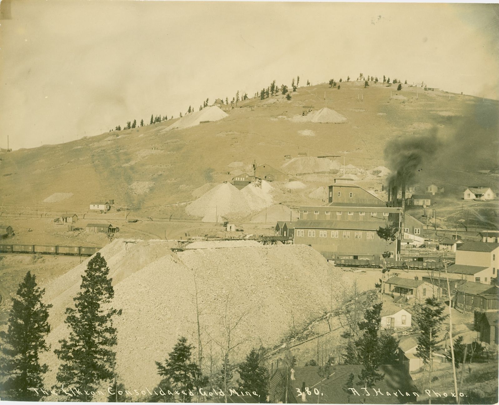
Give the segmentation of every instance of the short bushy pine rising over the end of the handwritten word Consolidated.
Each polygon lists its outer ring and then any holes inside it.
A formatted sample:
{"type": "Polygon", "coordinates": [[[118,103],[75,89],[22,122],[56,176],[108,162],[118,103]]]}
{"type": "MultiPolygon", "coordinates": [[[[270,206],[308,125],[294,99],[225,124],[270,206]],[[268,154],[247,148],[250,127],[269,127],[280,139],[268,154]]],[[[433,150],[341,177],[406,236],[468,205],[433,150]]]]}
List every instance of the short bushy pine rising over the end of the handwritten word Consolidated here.
{"type": "Polygon", "coordinates": [[[180,402],[191,402],[192,396],[189,391],[194,394],[194,387],[206,384],[199,366],[191,362],[192,349],[193,346],[187,344],[187,339],[181,337],[173,351],[168,354],[168,359],[165,359],[165,364],[156,362],[158,374],[167,380],[174,390],[186,393],[180,396],[180,402]]]}

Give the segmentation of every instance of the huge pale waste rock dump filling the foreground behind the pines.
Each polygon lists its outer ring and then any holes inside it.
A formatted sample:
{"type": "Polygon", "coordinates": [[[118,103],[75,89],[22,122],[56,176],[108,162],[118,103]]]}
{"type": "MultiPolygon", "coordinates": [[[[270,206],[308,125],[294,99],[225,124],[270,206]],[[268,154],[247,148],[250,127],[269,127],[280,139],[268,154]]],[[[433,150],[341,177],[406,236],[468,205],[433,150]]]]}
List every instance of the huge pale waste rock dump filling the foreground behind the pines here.
{"type": "MultiPolygon", "coordinates": [[[[335,307],[340,305],[349,285],[341,270],[307,245],[263,246],[249,241],[239,247],[218,247],[223,244],[204,241],[198,246],[202,248],[173,252],[172,242],[116,239],[100,250],[113,280],[112,306],[123,311],[114,321],[118,337],[114,350],[116,372],[126,387],[156,386],[160,377],[155,361],[168,357],[181,336],[197,348],[194,280],[203,368],[208,375],[209,342],[211,338],[224,341],[226,308],[231,322],[242,316],[231,335],[231,342],[243,342],[231,353],[231,363],[237,364],[262,342],[267,348],[282,344],[293,322],[300,330],[330,311],[331,302],[335,307]]],[[[53,349],[69,336],[64,311],[74,308],[73,297],[80,290],[89,259],[44,286],[44,299],[53,304],[47,337],[52,351],[41,358],[49,366],[46,386],[56,383],[59,361],[53,349]]],[[[219,371],[220,348],[212,345],[213,362],[219,371]]]]}

